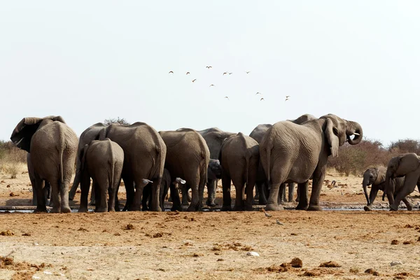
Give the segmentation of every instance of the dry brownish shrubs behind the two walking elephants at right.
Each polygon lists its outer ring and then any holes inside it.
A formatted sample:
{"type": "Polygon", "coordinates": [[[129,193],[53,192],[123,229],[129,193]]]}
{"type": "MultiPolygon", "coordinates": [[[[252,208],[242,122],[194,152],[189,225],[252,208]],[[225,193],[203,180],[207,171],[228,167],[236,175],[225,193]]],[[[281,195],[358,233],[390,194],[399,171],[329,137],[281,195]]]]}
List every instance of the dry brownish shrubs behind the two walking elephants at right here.
{"type": "Polygon", "coordinates": [[[384,147],[380,141],[363,139],[358,145],[339,147],[337,158],[328,158],[328,167],[345,176],[361,175],[369,167],[388,165],[391,158],[402,153],[420,153],[420,141],[405,139],[384,147]]]}

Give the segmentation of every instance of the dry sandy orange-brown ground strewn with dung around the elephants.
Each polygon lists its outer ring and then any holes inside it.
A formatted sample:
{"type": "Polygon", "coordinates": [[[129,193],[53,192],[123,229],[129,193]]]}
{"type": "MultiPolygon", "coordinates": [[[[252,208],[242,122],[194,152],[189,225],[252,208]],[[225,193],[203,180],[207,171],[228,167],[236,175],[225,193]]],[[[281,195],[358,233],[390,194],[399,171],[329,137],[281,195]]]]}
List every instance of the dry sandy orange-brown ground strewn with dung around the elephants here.
{"type": "MultiPolygon", "coordinates": [[[[0,175],[0,206],[31,205],[22,173],[0,175]]],[[[323,207],[365,204],[361,178],[326,179],[339,186],[323,187],[323,207]]],[[[419,279],[418,211],[4,213],[0,279],[419,279]]]]}

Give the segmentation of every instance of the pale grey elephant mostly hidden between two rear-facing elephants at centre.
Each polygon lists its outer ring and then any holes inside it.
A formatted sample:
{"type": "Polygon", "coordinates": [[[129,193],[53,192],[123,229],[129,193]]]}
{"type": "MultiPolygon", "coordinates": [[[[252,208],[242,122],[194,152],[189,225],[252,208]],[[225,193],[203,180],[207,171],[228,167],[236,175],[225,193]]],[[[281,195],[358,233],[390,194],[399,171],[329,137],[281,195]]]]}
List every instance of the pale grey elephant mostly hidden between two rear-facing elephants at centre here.
{"type": "MultiPolygon", "coordinates": [[[[183,128],[181,128],[180,130],[183,130],[183,128]]],[[[210,151],[210,158],[214,160],[218,160],[219,158],[223,141],[226,138],[232,135],[235,135],[235,133],[232,133],[232,132],[223,132],[217,127],[211,127],[211,128],[208,128],[207,130],[197,130],[197,132],[206,141],[206,144],[209,147],[209,151],[210,151]]],[[[207,202],[206,202],[206,204],[209,207],[216,206],[216,204],[214,203],[214,199],[216,197],[216,186],[217,186],[218,179],[215,179],[215,178],[216,176],[214,174],[211,174],[211,170],[209,169],[209,172],[207,173],[207,202]]],[[[188,205],[187,197],[183,196],[182,200],[183,200],[183,205],[184,204],[188,205]]]]}

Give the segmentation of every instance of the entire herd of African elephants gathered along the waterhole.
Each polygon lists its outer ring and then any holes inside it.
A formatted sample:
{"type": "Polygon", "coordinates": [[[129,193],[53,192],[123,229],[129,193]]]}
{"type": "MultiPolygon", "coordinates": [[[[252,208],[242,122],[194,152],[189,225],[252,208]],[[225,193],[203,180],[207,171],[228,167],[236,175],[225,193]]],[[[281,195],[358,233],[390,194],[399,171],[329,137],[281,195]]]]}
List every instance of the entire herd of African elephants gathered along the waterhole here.
{"type": "MultiPolygon", "coordinates": [[[[28,152],[36,212],[47,211],[49,197],[51,212],[70,212],[69,200],[79,185],[79,211],[87,211],[91,181],[90,203],[95,211],[119,211],[121,180],[127,195],[125,211],[165,210],[169,189],[172,210],[181,211],[181,205],[187,204],[188,211],[200,211],[206,185],[206,204],[216,206],[218,179],[223,186],[223,211],[231,210],[231,183],[236,190],[233,210],[251,210],[257,200],[267,204],[267,210],[281,210],[286,184],[290,201],[295,183],[296,209],[321,210],[319,197],[328,157],[337,156],[339,146],[346,142],[359,144],[363,130],[358,123],[332,114],[321,118],[305,114],[274,125],[258,125],[249,136],[218,128],[157,132],[146,123],[97,123],[78,138],[61,116],[48,116],[23,118],[10,139],[28,152]],[[69,192],[75,162],[76,176],[69,192]]],[[[397,210],[401,200],[412,209],[406,197],[420,186],[419,180],[420,159],[414,153],[392,158],[388,168],[367,169],[363,176],[365,210],[371,209],[378,190],[388,197],[391,210],[397,210]],[[367,186],[372,186],[370,195],[367,186]]]]}

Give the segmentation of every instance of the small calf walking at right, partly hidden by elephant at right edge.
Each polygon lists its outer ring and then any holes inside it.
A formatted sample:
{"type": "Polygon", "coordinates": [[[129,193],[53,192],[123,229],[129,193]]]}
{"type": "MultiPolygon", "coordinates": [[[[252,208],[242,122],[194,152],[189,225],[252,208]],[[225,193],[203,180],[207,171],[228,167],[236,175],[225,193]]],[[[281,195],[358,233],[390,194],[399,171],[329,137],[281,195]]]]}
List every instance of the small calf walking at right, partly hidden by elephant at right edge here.
{"type": "MultiPolygon", "coordinates": [[[[378,190],[385,190],[385,179],[386,179],[386,167],[372,167],[366,169],[363,174],[363,192],[365,192],[367,206],[364,207],[365,211],[370,211],[372,209],[372,204],[377,197],[378,190]],[[367,195],[367,186],[372,186],[370,188],[370,194],[367,195]]],[[[395,186],[395,193],[398,193],[400,188],[404,185],[405,177],[398,177],[393,180],[395,186]]],[[[420,190],[420,187],[419,187],[420,190]]],[[[385,192],[384,192],[385,193],[385,192]]],[[[413,204],[409,201],[407,197],[402,199],[402,202],[407,206],[407,210],[411,211],[413,209],[413,204]]]]}

